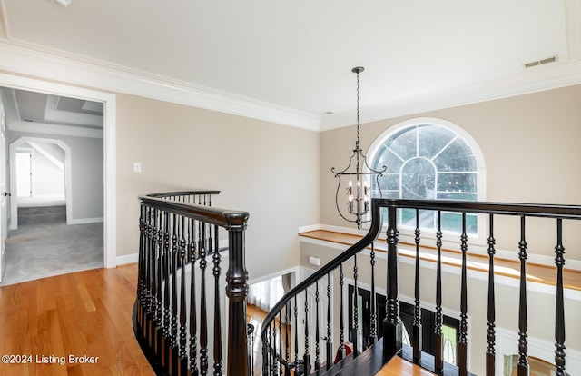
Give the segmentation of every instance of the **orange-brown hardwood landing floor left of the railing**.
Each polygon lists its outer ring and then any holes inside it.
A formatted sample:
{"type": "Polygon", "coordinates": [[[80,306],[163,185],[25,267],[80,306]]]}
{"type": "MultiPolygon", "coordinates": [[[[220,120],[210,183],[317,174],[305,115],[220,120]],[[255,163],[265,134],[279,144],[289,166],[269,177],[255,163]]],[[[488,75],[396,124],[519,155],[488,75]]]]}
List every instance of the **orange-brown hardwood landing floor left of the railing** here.
{"type": "Polygon", "coordinates": [[[0,375],[153,375],[133,335],[136,281],[133,264],[0,287],[0,375]]]}

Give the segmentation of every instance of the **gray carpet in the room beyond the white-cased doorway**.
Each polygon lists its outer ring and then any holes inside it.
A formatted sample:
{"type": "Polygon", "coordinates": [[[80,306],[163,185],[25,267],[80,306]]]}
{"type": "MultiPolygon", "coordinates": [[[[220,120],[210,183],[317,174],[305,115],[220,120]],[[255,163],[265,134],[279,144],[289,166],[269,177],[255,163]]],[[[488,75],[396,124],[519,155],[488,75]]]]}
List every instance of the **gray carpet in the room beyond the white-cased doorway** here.
{"type": "Polygon", "coordinates": [[[23,224],[6,240],[2,285],[103,267],[103,223],[23,224]]]}

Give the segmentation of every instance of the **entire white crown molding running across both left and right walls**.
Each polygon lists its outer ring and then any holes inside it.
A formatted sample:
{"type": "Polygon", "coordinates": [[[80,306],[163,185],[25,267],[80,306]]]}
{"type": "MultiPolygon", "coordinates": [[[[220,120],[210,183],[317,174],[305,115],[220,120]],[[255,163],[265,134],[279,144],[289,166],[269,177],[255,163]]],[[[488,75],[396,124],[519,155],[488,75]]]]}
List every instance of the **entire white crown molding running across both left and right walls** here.
{"type": "MultiPolygon", "coordinates": [[[[63,54],[38,45],[0,41],[0,54],[3,56],[0,59],[0,70],[7,72],[200,107],[311,131],[327,131],[356,122],[354,114],[351,113],[323,116],[305,113],[121,65],[74,54],[63,54]]],[[[480,83],[362,106],[361,123],[531,94],[574,84],[581,84],[581,61],[558,62],[480,83]]]]}

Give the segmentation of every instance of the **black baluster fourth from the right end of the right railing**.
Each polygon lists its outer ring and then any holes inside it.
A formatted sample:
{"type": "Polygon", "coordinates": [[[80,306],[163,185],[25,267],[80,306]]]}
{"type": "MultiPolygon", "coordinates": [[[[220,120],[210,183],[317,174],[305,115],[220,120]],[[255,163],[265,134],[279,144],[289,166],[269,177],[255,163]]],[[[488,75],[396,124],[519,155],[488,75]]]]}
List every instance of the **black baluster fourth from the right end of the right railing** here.
{"type": "Polygon", "coordinates": [[[466,213],[462,213],[462,234],[460,235],[462,250],[462,281],[460,285],[460,338],[458,341],[458,373],[468,375],[468,234],[466,233],[466,213]]]}

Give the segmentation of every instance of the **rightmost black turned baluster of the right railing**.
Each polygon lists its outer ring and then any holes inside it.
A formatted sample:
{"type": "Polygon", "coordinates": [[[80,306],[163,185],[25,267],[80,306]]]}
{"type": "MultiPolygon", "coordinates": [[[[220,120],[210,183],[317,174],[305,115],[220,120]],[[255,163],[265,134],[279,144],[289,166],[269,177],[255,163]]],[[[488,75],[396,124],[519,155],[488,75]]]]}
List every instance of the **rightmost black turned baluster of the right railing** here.
{"type": "Polygon", "coordinates": [[[556,220],[556,311],[555,311],[555,366],[556,376],[565,376],[565,303],[563,299],[563,266],[565,247],[563,246],[563,220],[556,220]]]}

